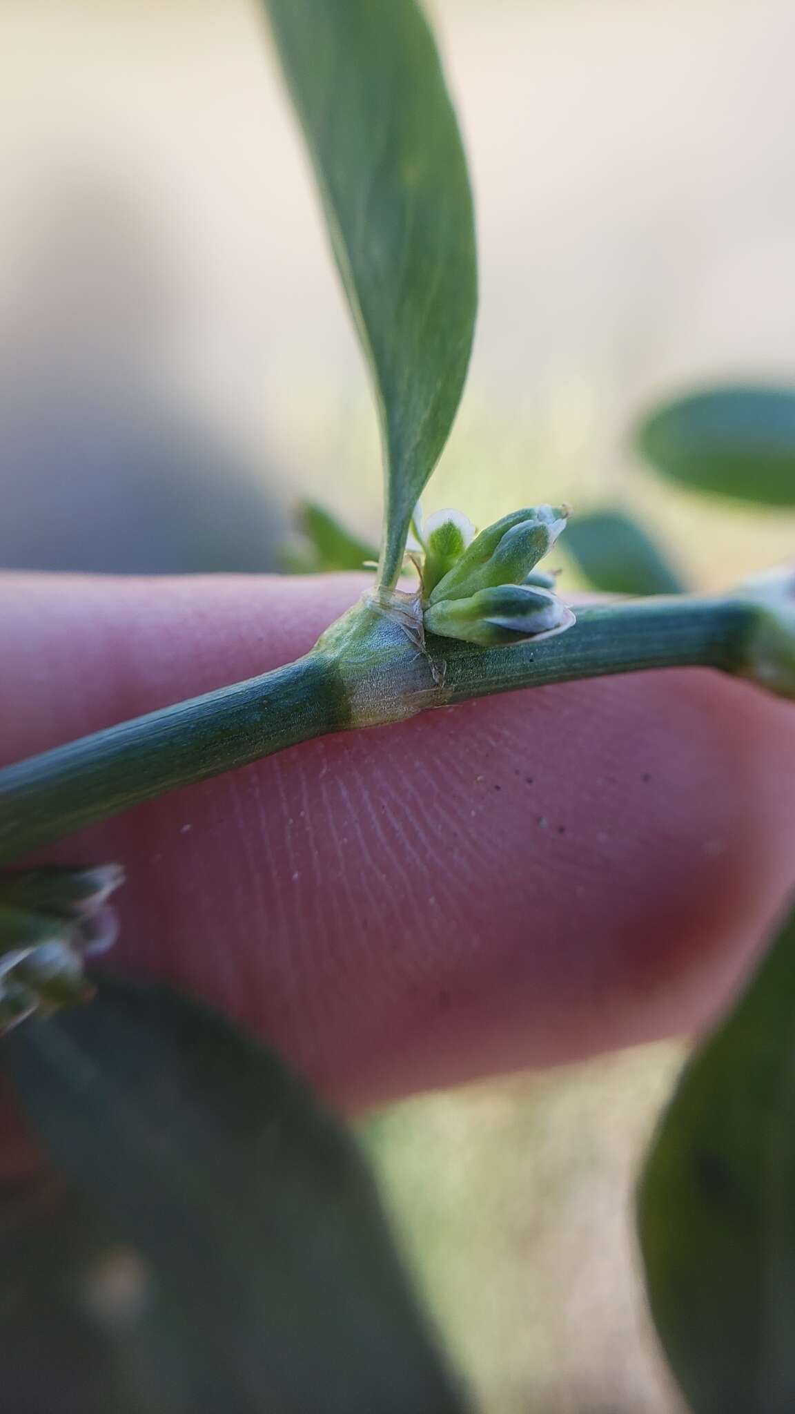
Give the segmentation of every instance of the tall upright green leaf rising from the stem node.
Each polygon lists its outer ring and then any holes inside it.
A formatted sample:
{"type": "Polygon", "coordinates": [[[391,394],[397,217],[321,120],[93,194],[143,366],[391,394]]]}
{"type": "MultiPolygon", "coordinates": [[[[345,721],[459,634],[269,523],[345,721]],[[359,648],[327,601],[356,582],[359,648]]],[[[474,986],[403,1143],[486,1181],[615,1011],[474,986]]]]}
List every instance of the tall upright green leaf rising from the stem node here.
{"type": "Polygon", "coordinates": [[[263,0],[372,366],[386,467],[382,577],[464,386],[477,307],[467,164],[414,0],[263,0]]]}

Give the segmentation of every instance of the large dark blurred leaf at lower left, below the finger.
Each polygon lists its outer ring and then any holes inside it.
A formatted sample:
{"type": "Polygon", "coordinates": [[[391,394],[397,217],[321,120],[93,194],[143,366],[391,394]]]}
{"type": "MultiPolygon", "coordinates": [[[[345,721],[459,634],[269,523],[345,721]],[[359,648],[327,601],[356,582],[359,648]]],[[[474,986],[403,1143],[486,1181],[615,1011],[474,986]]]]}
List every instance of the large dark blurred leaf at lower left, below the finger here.
{"type": "Polygon", "coordinates": [[[139,1263],[124,1339],[146,1414],[461,1408],[362,1155],[276,1056],[167,988],[112,980],[0,1053],[139,1263]]]}

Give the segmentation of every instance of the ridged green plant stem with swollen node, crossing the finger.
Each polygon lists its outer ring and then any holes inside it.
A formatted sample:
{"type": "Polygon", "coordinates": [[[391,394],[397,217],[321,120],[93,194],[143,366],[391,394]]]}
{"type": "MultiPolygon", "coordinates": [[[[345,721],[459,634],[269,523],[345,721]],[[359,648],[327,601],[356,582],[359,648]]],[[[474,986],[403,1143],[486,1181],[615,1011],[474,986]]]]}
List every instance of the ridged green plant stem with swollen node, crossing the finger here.
{"type": "Polygon", "coordinates": [[[702,665],[748,673],[758,608],[671,597],[580,609],[556,638],[511,648],[429,639],[366,601],[306,658],[0,771],[0,863],[168,790],[301,741],[579,677],[702,665]]]}

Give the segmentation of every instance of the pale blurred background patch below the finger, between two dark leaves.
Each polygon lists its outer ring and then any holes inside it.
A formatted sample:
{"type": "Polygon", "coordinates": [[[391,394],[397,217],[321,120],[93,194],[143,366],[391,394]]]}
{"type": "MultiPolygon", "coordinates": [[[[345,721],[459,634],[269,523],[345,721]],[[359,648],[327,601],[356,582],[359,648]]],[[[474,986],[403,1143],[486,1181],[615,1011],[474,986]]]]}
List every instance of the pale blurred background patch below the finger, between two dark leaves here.
{"type": "Polygon", "coordinates": [[[364,1138],[482,1414],[682,1414],[632,1250],[679,1045],[417,1096],[364,1138]]]}

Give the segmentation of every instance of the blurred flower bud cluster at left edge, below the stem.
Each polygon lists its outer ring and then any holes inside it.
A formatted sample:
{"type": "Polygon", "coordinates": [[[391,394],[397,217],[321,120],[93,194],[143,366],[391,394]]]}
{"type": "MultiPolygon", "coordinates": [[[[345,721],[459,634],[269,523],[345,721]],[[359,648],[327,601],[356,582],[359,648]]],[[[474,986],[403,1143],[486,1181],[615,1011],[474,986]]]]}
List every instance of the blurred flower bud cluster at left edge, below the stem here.
{"type": "Polygon", "coordinates": [[[0,874],[0,1034],[91,997],[83,957],[115,942],[108,899],[123,880],[117,864],[0,874]]]}

